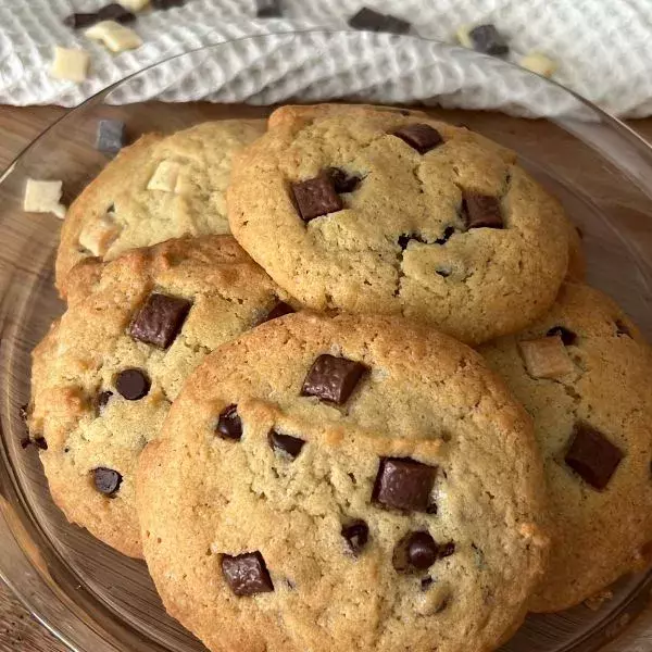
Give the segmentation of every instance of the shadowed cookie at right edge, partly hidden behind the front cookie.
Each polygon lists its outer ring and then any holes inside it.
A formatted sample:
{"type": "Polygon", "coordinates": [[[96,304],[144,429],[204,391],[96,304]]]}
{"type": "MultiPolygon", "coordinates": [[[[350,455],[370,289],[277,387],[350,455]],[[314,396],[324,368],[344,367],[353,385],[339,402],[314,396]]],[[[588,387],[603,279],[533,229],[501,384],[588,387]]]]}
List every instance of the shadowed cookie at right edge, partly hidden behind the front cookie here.
{"type": "Polygon", "coordinates": [[[607,297],[563,287],[546,317],[480,349],[535,419],[555,525],[538,612],[586,600],[652,542],[652,352],[607,297]]]}

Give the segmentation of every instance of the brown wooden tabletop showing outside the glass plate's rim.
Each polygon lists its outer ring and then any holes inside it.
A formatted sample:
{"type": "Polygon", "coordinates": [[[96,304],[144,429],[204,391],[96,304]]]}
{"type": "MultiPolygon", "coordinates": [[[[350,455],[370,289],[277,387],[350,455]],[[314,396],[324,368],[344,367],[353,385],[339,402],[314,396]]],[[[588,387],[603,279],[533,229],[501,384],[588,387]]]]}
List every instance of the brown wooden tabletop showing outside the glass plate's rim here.
{"type": "MultiPolygon", "coordinates": [[[[0,108],[0,172],[42,129],[65,113],[58,106],[0,108]]],[[[632,121],[635,129],[652,141],[652,118],[632,121]]],[[[544,140],[542,140],[544,142],[544,140]]],[[[556,142],[555,147],[560,143],[556,142]]],[[[544,147],[542,145],[542,147],[544,147]]],[[[568,161],[573,165],[573,160],[568,161]]],[[[0,551],[1,554],[1,551],[0,551]]],[[[603,652],[650,652],[652,650],[652,604],[614,643],[603,652]],[[647,636],[644,636],[647,632],[647,636]],[[643,635],[643,636],[642,636],[643,635]],[[641,640],[645,643],[632,644],[641,640]]],[[[0,582],[0,652],[67,652],[0,582]]],[[[102,652],[97,650],[97,652],[102,652]]]]}

